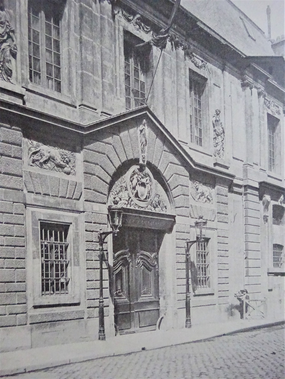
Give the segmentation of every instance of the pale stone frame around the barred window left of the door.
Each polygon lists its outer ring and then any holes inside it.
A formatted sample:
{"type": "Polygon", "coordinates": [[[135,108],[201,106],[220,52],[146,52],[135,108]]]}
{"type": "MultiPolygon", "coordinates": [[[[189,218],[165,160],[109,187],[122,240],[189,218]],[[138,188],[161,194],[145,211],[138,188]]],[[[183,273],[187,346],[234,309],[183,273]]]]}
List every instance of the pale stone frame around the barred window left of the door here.
{"type": "Polygon", "coordinates": [[[30,229],[27,231],[28,243],[27,254],[30,255],[30,279],[32,280],[32,299],[33,307],[51,307],[55,305],[79,305],[80,304],[80,243],[79,243],[79,214],[70,212],[54,212],[46,209],[35,210],[27,209],[28,218],[30,218],[30,229]],[[69,242],[70,242],[70,283],[69,293],[42,296],[41,294],[41,257],[40,257],[40,222],[55,222],[69,224],[69,242]],[[30,253],[29,253],[30,252],[30,253]],[[32,260],[32,262],[31,262],[32,260]]]}

